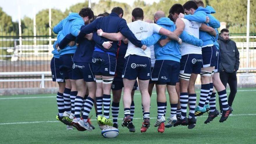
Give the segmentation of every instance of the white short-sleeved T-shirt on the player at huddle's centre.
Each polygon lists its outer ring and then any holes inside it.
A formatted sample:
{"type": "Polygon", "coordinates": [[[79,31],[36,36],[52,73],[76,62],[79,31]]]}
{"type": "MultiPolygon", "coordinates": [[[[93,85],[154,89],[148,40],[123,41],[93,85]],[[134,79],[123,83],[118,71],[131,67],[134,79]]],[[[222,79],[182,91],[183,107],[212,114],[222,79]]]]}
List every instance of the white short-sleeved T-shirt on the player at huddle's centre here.
{"type": "MultiPolygon", "coordinates": [[[[153,33],[159,33],[160,29],[162,28],[157,24],[152,24],[152,23],[150,24],[148,22],[144,22],[141,20],[131,22],[127,25],[138,40],[146,39],[147,37],[151,36],[153,33]]],[[[130,54],[135,54],[138,56],[146,56],[150,58],[150,47],[147,47],[147,49],[143,51],[143,49],[141,49],[140,47],[136,47],[129,41],[125,58],[130,54]]]]}

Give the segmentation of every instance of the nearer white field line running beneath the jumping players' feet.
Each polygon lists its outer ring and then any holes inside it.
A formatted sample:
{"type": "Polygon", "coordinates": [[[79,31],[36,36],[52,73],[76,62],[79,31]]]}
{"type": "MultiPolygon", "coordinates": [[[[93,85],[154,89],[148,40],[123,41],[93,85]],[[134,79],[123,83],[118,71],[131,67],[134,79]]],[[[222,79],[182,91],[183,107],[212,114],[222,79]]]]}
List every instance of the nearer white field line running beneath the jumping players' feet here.
{"type": "MultiPolygon", "coordinates": [[[[245,116],[245,115],[256,115],[256,114],[239,114],[239,115],[230,115],[230,116],[245,116]]],[[[202,117],[208,117],[208,116],[200,116],[197,118],[202,117]]],[[[140,120],[143,118],[133,118],[134,120],[140,120]]],[[[150,118],[150,119],[156,119],[156,118],[150,118]]],[[[96,119],[93,119],[91,121],[95,121],[96,119]]],[[[122,118],[118,118],[118,120],[122,120],[122,118]]],[[[38,121],[38,122],[10,122],[10,123],[0,123],[0,125],[13,125],[13,124],[33,124],[33,123],[47,123],[47,122],[59,122],[59,121],[38,121]]]]}

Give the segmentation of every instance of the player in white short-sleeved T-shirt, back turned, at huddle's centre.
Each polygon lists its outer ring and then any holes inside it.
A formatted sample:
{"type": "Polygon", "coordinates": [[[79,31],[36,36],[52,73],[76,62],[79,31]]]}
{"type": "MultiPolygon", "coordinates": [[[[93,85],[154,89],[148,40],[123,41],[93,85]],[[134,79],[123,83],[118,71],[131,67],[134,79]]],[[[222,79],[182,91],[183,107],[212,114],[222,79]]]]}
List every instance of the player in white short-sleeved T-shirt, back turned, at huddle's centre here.
{"type": "MultiPolygon", "coordinates": [[[[141,8],[135,8],[132,11],[132,21],[128,24],[129,29],[134,33],[138,40],[145,39],[151,36],[153,33],[160,33],[166,35],[172,40],[176,40],[179,43],[182,42],[178,36],[168,31],[167,29],[158,26],[157,24],[149,24],[143,22],[143,10],[141,8]]],[[[120,40],[123,36],[121,33],[102,33],[103,37],[110,40],[120,40]]],[[[141,132],[145,132],[150,126],[150,95],[148,93],[149,79],[151,78],[151,64],[150,64],[150,48],[141,49],[133,45],[130,41],[128,43],[128,49],[126,51],[126,63],[123,70],[123,82],[124,82],[124,95],[123,103],[125,110],[125,118],[122,122],[122,126],[127,126],[131,121],[130,118],[130,105],[131,105],[131,85],[134,85],[138,77],[139,88],[142,95],[142,104],[144,108],[144,122],[141,127],[141,132]]]]}

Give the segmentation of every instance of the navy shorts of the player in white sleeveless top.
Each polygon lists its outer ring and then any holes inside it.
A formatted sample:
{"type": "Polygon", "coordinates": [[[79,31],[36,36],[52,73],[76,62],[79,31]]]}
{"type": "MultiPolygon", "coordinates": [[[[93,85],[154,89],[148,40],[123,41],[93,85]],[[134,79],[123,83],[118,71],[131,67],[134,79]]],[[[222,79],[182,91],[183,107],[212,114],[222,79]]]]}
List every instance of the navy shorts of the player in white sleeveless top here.
{"type": "Polygon", "coordinates": [[[200,74],[202,67],[201,54],[186,54],[181,57],[180,71],[181,74],[200,74]]]}

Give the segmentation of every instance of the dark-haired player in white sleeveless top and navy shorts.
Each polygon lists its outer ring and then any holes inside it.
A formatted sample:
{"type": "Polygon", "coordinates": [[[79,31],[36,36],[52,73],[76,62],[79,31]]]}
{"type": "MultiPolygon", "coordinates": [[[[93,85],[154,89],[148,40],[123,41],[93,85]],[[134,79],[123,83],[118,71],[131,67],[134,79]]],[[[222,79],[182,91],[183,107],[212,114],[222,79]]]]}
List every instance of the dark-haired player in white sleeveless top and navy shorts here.
{"type": "MultiPolygon", "coordinates": [[[[184,9],[181,4],[175,4],[170,9],[170,14],[173,16],[173,19],[176,21],[176,34],[183,30],[189,33],[190,35],[199,38],[199,29],[202,31],[209,32],[212,35],[216,35],[216,31],[205,25],[198,22],[189,21],[187,19],[178,18],[179,13],[184,13],[184,9]]],[[[195,113],[195,102],[196,95],[194,87],[189,89],[189,83],[195,84],[195,79],[191,79],[192,75],[198,75],[201,71],[202,66],[202,48],[195,45],[191,45],[183,42],[180,46],[180,51],[182,54],[181,65],[180,65],[180,103],[181,103],[181,117],[177,120],[174,126],[177,125],[189,125],[189,129],[195,127],[196,119],[194,116],[195,113]],[[190,113],[189,120],[186,118],[186,109],[188,104],[188,99],[190,99],[190,113]]],[[[196,78],[196,77],[195,77],[196,78]]]]}

